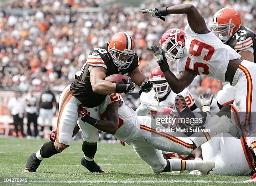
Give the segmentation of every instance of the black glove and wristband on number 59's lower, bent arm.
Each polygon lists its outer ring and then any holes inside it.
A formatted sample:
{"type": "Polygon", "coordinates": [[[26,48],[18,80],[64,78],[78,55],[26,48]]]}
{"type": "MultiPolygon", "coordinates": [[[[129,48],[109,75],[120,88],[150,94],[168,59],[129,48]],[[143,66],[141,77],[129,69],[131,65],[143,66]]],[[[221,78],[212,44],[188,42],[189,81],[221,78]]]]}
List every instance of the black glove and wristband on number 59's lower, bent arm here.
{"type": "Polygon", "coordinates": [[[156,62],[159,64],[160,69],[162,72],[165,72],[170,69],[167,59],[164,54],[164,50],[160,48],[159,46],[152,45],[149,50],[152,52],[154,55],[156,62]]]}

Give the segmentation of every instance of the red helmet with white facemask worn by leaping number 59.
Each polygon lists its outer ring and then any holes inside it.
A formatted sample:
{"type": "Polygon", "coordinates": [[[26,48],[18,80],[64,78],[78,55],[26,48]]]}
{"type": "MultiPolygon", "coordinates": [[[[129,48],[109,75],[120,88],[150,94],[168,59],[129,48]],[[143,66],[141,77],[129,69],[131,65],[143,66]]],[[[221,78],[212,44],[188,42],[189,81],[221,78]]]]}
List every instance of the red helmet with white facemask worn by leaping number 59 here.
{"type": "Polygon", "coordinates": [[[161,47],[170,61],[176,61],[184,56],[185,33],[178,28],[166,31],[161,37],[161,47]]]}

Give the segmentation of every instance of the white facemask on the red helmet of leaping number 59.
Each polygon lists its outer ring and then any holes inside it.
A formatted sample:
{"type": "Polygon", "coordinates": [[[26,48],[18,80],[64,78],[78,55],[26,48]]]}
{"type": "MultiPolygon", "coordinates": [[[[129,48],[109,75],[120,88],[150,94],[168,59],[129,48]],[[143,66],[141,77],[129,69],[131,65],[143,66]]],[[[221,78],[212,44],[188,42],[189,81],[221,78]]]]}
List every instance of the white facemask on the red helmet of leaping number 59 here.
{"type": "Polygon", "coordinates": [[[172,38],[168,38],[161,46],[165,52],[166,59],[174,62],[182,58],[184,56],[184,46],[182,45],[182,41],[175,41],[172,38]]]}

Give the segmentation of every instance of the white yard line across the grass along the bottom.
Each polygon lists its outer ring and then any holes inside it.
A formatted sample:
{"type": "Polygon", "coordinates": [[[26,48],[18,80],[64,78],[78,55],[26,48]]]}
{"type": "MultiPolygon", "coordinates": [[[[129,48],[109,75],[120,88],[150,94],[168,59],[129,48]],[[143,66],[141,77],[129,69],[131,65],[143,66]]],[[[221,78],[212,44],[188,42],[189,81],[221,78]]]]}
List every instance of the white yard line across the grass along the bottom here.
{"type": "Polygon", "coordinates": [[[148,180],[148,181],[101,181],[101,180],[65,180],[65,181],[29,181],[31,183],[242,183],[242,181],[210,181],[210,180],[148,180]]]}

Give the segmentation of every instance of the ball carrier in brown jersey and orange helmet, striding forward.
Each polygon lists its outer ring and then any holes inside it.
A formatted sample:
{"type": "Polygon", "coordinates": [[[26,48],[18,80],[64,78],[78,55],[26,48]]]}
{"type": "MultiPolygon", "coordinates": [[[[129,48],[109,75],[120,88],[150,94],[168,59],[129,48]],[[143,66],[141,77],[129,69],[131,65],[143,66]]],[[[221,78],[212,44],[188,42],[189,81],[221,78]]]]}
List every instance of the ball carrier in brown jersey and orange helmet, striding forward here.
{"type": "Polygon", "coordinates": [[[73,130],[78,120],[79,104],[83,104],[91,116],[83,123],[79,121],[82,123],[79,127],[84,140],[81,164],[91,172],[105,172],[94,161],[99,138],[99,130],[94,126],[99,125],[97,120],[100,119],[100,105],[107,94],[131,93],[135,84],[140,86],[139,93],[152,89],[151,82],[148,82],[146,76],[138,69],[139,59],[134,48],[133,38],[126,32],[119,32],[104,46],[91,51],[87,61],[77,71],[75,80],[61,93],[56,140],[44,143],[28,158],[25,172],[35,172],[44,158],[60,153],[71,144],[73,130]],[[129,76],[129,79],[123,84],[106,81],[105,77],[112,74],[123,74],[129,76]]]}

